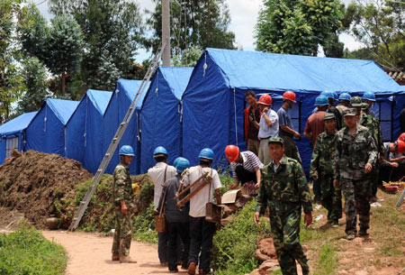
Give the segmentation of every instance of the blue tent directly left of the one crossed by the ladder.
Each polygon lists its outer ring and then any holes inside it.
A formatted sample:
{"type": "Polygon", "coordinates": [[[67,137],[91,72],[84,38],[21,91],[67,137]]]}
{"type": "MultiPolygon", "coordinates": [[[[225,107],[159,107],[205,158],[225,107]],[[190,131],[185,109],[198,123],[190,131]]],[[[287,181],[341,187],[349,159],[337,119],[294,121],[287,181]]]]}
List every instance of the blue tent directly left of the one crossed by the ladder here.
{"type": "Polygon", "coordinates": [[[103,115],[112,92],[89,89],[66,125],[67,158],[95,173],[103,160],[103,115]]]}

